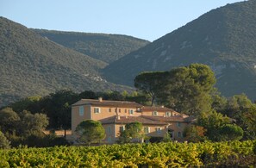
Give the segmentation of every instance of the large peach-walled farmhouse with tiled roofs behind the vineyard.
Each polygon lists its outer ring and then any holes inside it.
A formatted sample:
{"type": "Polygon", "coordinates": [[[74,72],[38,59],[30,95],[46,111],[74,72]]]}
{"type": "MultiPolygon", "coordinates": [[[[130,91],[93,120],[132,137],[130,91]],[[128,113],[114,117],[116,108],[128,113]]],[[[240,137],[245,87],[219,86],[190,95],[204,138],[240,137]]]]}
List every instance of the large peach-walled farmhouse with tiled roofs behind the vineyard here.
{"type": "Polygon", "coordinates": [[[98,99],[81,99],[72,104],[72,137],[75,129],[84,120],[101,121],[105,128],[106,144],[116,143],[118,136],[125,129],[125,124],[139,121],[144,133],[151,140],[159,140],[170,134],[172,140],[183,141],[184,128],[190,123],[189,115],[180,114],[165,107],[149,107],[139,103],[108,101],[98,99]]]}

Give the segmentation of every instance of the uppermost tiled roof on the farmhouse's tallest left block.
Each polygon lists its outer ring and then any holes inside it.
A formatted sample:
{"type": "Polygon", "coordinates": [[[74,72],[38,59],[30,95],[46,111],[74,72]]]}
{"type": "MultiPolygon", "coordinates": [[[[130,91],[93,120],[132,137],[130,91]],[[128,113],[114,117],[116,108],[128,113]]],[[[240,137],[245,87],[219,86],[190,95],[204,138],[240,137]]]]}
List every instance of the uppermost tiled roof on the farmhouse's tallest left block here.
{"type": "Polygon", "coordinates": [[[79,106],[79,105],[96,105],[96,106],[107,106],[107,107],[130,107],[130,108],[141,108],[142,105],[135,102],[127,102],[127,101],[109,101],[109,100],[102,100],[99,101],[97,99],[81,99],[77,103],[72,104],[72,106],[79,106]]]}

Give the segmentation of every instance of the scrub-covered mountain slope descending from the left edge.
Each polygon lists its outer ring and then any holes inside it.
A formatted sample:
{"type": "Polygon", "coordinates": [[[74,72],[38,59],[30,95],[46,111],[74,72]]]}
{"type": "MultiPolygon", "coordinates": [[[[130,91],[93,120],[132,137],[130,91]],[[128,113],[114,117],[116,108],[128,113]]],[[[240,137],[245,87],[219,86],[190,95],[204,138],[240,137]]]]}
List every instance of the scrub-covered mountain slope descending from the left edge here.
{"type": "Polygon", "coordinates": [[[99,75],[105,65],[0,17],[0,107],[55,90],[123,89],[99,75]]]}

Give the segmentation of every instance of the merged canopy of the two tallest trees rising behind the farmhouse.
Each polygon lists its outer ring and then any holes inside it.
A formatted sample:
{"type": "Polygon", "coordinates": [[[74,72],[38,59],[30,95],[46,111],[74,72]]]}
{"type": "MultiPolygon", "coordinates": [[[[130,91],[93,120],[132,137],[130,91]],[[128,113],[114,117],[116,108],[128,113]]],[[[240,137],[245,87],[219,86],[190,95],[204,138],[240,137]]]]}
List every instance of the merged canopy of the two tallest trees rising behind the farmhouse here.
{"type": "Polygon", "coordinates": [[[210,94],[214,90],[215,75],[208,65],[192,64],[170,72],[142,72],[134,79],[134,86],[157,103],[194,115],[211,109],[210,94]]]}

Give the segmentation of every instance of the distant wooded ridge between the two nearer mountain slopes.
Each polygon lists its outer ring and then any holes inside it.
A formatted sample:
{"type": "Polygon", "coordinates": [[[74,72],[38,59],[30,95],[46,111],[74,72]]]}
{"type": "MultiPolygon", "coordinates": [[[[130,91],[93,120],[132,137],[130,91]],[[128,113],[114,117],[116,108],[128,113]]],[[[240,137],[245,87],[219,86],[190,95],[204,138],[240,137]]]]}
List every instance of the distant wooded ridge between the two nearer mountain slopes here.
{"type": "Polygon", "coordinates": [[[107,63],[120,59],[124,55],[149,43],[147,40],[137,39],[128,35],[88,34],[44,29],[32,30],[64,47],[72,48],[79,53],[87,54],[94,59],[100,59],[107,63]]]}

